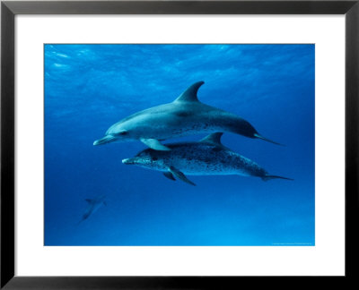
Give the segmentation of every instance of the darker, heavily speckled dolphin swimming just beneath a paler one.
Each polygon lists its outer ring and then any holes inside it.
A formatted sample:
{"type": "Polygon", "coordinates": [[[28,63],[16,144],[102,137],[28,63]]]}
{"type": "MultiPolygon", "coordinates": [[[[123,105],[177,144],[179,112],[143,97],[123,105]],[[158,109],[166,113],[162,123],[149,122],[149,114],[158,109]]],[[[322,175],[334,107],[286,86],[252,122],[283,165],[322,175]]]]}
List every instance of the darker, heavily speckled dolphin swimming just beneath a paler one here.
{"type": "Polygon", "coordinates": [[[162,171],[171,180],[177,177],[192,185],[195,183],[186,175],[244,175],[260,177],[265,181],[274,178],[293,180],[269,175],[256,162],[224,147],[222,134],[215,132],[198,142],[166,144],[171,151],[144,149],[135,158],[123,159],[122,163],[162,171]]]}

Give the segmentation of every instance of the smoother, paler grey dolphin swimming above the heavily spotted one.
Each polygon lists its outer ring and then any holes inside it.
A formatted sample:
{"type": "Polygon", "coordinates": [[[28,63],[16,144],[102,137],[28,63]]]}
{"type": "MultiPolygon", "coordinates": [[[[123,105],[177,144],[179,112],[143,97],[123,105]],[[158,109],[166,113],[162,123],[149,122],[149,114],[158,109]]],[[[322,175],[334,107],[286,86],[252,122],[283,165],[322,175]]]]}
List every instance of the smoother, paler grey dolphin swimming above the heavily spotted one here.
{"type": "Polygon", "coordinates": [[[140,140],[152,149],[169,150],[160,141],[210,132],[233,132],[278,144],[262,137],[249,122],[238,115],[201,103],[197,98],[197,90],[204,83],[194,83],[169,104],[127,116],[110,126],[105,136],[94,141],[93,145],[140,140]]]}

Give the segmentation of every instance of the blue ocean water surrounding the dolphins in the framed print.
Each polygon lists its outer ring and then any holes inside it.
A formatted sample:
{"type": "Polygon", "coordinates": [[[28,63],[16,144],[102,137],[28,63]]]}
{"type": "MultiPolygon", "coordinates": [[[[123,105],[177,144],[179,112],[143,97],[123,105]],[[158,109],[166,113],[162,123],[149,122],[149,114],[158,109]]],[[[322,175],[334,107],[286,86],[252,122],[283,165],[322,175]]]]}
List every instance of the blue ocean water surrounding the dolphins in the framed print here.
{"type": "Polygon", "coordinates": [[[48,44],[44,54],[45,245],[314,245],[314,45],[48,44]],[[285,144],[227,132],[223,145],[294,181],[188,176],[191,186],[122,164],[140,141],[92,145],[196,81],[200,101],[285,144]],[[106,205],[79,223],[99,196],[106,205]]]}

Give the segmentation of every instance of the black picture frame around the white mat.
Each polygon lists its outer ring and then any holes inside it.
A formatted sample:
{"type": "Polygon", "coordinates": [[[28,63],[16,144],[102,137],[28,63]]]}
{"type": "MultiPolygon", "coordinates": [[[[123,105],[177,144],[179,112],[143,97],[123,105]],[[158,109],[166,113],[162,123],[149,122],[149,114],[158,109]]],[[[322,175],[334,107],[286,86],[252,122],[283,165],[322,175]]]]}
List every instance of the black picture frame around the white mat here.
{"type": "MultiPolygon", "coordinates": [[[[4,289],[228,288],[243,280],[276,284],[301,277],[16,277],[14,276],[14,17],[17,14],[345,14],[346,17],[346,275],[359,275],[358,115],[359,0],[353,1],[2,1],[1,3],[1,280],[4,289]],[[282,279],[278,281],[278,279],[282,279]]],[[[335,112],[333,112],[335,115],[335,112]]],[[[334,116],[335,117],[335,116],[334,116]]],[[[324,277],[311,277],[320,279],[324,277]]],[[[353,281],[351,281],[353,282],[353,281]]]]}

